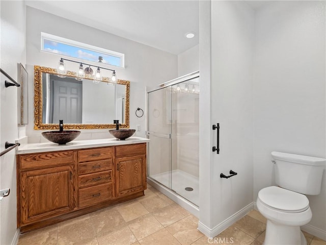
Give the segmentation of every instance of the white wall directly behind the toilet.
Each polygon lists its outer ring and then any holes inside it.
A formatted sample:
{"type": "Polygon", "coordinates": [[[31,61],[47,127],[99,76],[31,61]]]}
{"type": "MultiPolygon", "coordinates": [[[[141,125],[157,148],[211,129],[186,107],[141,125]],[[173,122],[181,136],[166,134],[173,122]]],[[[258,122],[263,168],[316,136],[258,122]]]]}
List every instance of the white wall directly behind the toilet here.
{"type": "MultiPolygon", "coordinates": [[[[256,201],[261,188],[275,185],[270,152],[325,158],[325,2],[272,3],[255,23],[256,201]]],[[[320,195],[308,198],[309,224],[325,232],[325,172],[320,195]]]]}

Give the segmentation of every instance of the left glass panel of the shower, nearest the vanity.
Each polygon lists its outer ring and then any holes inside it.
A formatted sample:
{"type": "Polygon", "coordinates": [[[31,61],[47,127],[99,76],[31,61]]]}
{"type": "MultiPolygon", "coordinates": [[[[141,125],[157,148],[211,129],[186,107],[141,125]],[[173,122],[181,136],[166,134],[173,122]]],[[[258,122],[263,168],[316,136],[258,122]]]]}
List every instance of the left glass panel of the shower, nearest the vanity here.
{"type": "Polygon", "coordinates": [[[171,89],[148,93],[148,175],[171,189],[171,89]]]}

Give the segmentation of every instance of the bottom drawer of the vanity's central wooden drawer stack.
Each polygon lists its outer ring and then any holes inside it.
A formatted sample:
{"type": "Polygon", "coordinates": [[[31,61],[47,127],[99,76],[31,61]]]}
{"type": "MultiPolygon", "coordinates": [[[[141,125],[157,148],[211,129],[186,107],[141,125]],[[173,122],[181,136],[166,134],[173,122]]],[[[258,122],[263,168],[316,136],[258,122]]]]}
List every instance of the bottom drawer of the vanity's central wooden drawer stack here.
{"type": "Polygon", "coordinates": [[[79,207],[92,206],[112,199],[112,183],[79,189],[79,207]]]}

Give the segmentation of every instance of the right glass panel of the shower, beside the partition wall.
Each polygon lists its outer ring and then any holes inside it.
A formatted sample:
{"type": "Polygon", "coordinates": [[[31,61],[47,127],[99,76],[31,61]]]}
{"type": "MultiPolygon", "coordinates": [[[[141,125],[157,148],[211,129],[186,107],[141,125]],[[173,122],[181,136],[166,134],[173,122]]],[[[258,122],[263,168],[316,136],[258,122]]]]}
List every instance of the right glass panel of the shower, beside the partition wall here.
{"type": "Polygon", "coordinates": [[[199,206],[199,78],[171,88],[172,186],[199,206]]]}

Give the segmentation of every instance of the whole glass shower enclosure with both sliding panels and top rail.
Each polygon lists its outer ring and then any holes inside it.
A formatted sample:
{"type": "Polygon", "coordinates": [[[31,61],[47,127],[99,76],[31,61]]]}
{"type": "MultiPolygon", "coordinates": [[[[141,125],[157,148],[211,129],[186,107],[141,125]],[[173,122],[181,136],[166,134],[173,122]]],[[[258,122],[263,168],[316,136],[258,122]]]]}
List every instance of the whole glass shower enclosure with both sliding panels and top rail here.
{"type": "Polygon", "coordinates": [[[147,93],[148,179],[199,206],[199,72],[147,93]]]}

